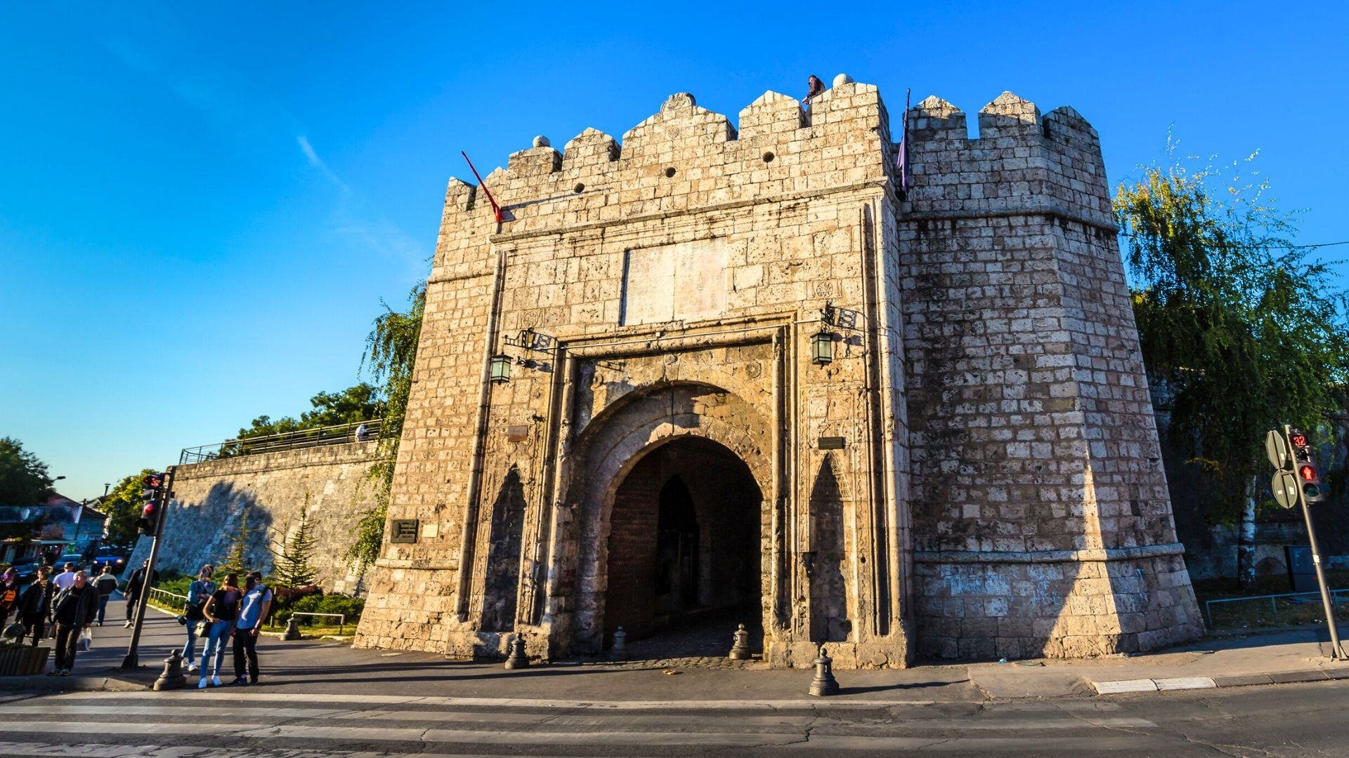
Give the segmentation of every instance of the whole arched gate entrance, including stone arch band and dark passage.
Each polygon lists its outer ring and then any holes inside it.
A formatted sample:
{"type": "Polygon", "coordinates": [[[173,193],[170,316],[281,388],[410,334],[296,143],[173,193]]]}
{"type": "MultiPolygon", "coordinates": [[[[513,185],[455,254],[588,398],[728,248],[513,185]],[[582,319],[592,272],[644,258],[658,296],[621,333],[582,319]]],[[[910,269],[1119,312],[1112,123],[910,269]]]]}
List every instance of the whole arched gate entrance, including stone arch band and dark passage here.
{"type": "Polygon", "coordinates": [[[715,611],[730,616],[719,646],[735,623],[764,639],[784,631],[770,429],[738,394],[695,382],[643,387],[588,419],[568,484],[572,650],[602,651],[618,626],[635,641],[715,611]]]}

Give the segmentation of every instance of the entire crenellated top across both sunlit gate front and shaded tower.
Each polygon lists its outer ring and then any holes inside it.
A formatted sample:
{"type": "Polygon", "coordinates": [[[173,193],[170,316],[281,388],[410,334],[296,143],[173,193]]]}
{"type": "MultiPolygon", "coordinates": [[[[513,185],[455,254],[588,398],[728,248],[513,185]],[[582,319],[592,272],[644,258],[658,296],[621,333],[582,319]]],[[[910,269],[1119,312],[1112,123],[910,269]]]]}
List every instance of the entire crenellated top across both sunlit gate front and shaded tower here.
{"type": "MultiPolygon", "coordinates": [[[[1099,139],[1072,108],[1041,115],[1004,92],[979,109],[977,138],[965,113],[939,97],[915,105],[908,119],[905,210],[1052,206],[1093,224],[1112,223],[1099,139]]],[[[840,74],[808,108],[765,92],[739,112],[738,124],[676,93],[621,142],[587,128],[558,151],[540,136],[484,181],[506,209],[499,232],[541,232],[858,183],[894,192],[897,139],[878,89],[840,74]]],[[[452,182],[445,223],[494,224],[480,200],[452,182]]]]}

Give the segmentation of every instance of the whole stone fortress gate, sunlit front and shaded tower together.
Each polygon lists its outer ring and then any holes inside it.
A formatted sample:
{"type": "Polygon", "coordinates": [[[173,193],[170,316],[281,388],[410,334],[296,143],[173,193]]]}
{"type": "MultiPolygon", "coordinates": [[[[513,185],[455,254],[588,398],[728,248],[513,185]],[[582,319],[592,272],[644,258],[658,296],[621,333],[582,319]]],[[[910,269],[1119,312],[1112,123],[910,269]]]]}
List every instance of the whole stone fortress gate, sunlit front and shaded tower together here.
{"type": "Polygon", "coordinates": [[[876,86],[451,179],[357,646],[600,653],[708,614],[773,666],[1201,633],[1095,129],[876,86]],[[759,650],[757,650],[759,651],[759,650]]]}

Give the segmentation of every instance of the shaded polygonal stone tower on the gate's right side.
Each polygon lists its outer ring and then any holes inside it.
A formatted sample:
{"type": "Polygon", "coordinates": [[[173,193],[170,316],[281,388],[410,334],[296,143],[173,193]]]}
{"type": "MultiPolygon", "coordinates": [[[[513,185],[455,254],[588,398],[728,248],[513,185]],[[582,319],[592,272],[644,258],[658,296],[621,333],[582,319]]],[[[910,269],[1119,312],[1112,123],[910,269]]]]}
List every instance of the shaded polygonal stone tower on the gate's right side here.
{"type": "Polygon", "coordinates": [[[936,98],[911,119],[898,236],[921,651],[1193,638],[1095,131],[1010,93],[978,139],[936,98]]]}

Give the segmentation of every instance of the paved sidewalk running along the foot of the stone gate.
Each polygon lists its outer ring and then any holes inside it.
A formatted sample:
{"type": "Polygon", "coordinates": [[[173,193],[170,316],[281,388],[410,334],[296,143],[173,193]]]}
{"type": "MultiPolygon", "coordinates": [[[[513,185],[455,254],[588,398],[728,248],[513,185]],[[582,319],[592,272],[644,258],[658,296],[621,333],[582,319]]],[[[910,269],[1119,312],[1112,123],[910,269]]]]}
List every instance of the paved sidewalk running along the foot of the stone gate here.
{"type": "MultiPolygon", "coordinates": [[[[140,664],[121,670],[130,630],[120,602],[109,604],[109,626],[94,630],[94,647],[80,653],[73,677],[0,680],[0,689],[134,689],[150,685],[163,660],[183,642],[182,627],[150,610],[142,633],[140,664]]],[[[1346,630],[1349,631],[1349,630],[1346,630]]],[[[1344,634],[1349,637],[1349,634],[1344,634]]],[[[839,670],[840,697],[880,705],[913,701],[982,701],[1014,697],[1063,697],[1113,692],[1249,685],[1349,677],[1349,664],[1333,662],[1325,631],[1299,630],[1199,643],[1137,657],[1037,660],[1008,664],[920,665],[902,670],[839,670]],[[1112,682],[1128,682],[1116,685],[1112,682]]],[[[201,653],[198,642],[198,655],[201,653]]],[[[375,696],[448,696],[548,701],[784,701],[805,699],[809,670],[762,666],[626,665],[602,662],[534,664],[505,670],[500,664],[448,661],[428,653],[353,650],[322,641],[258,645],[262,685],[274,693],[360,692],[375,696]],[[665,673],[673,670],[676,673],[665,673]]],[[[225,655],[225,674],[232,657],[225,655]]],[[[221,676],[221,678],[228,678],[221,676]]],[[[192,684],[196,684],[194,680],[192,684]]]]}

